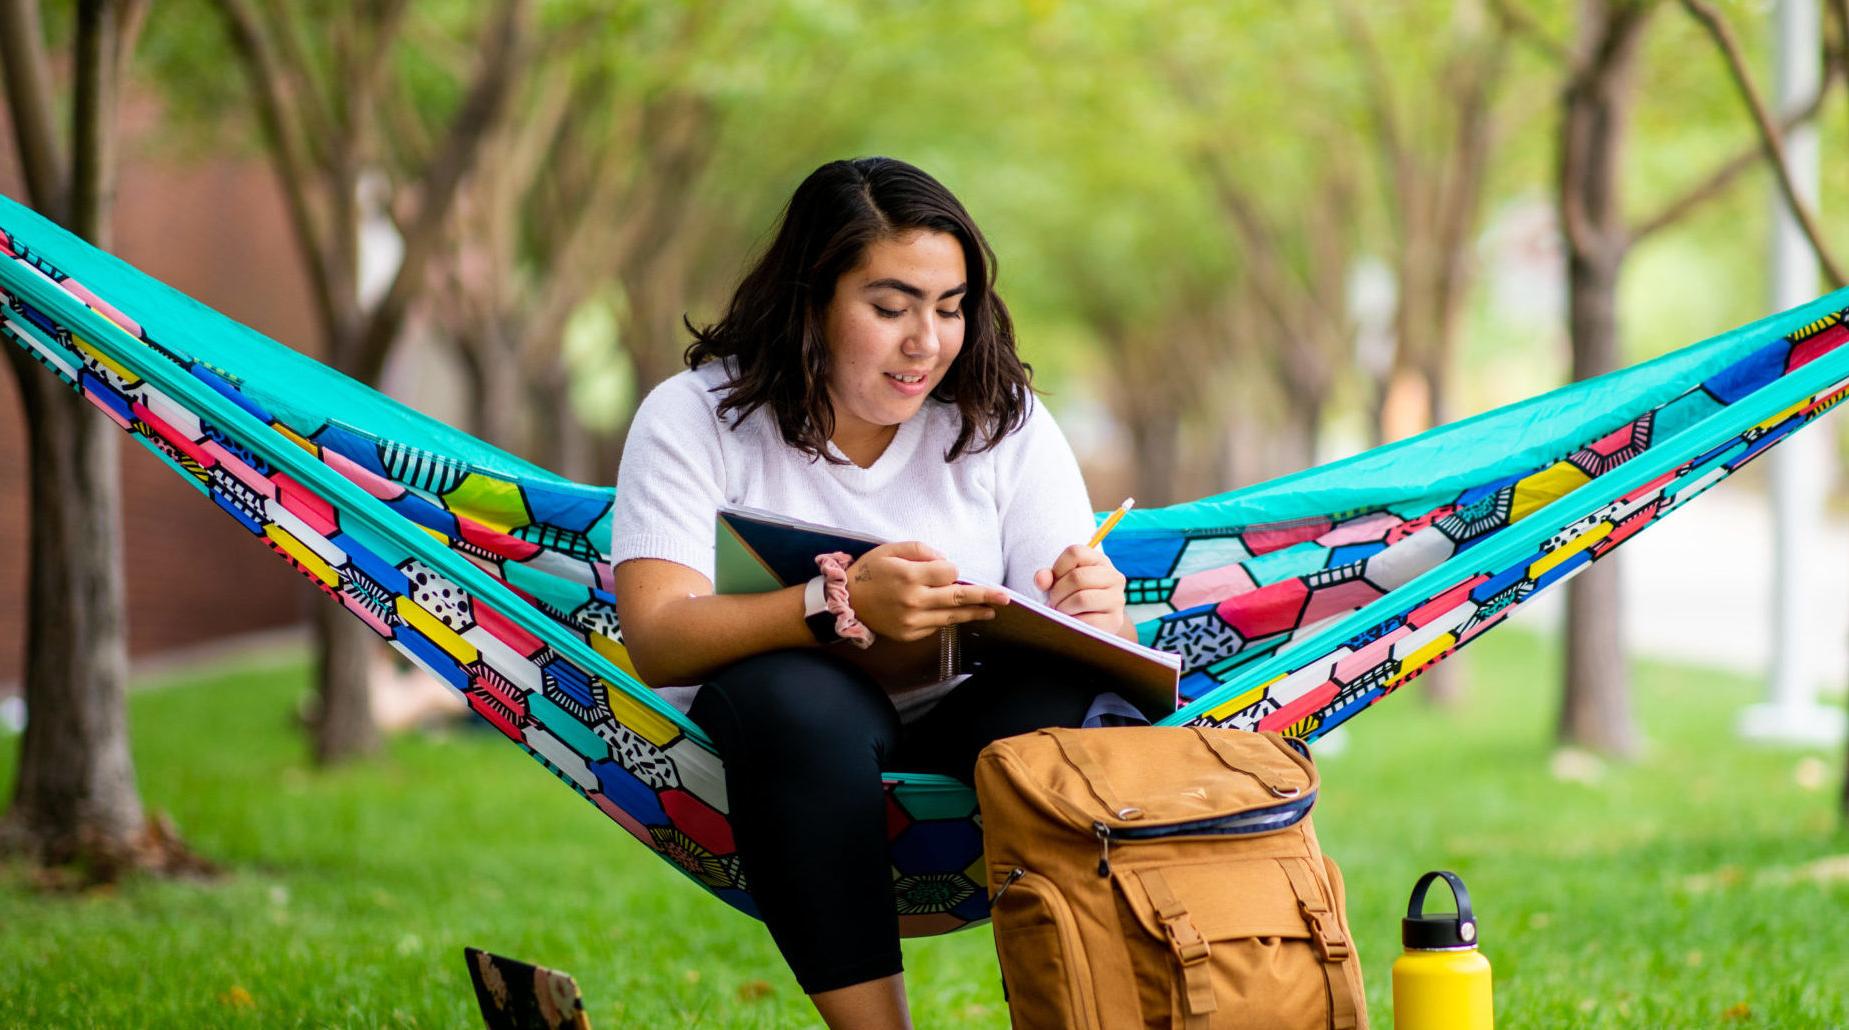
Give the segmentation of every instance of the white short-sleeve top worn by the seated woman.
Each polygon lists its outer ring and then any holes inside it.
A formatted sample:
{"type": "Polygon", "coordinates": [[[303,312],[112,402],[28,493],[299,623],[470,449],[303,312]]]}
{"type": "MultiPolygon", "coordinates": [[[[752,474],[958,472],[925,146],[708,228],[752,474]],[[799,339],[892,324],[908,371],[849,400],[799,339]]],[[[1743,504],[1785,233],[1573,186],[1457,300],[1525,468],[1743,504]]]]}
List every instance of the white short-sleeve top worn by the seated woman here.
{"type": "MultiPolygon", "coordinates": [[[[923,540],[963,579],[1032,597],[1034,571],[1091,536],[1091,497],[1052,414],[1030,399],[1026,423],[987,451],[945,460],[961,427],[956,405],[926,399],[869,468],[814,459],[784,442],[760,407],[741,422],[717,407],[727,366],[708,361],[655,386],[629,429],[616,477],[610,564],[666,558],[714,577],[721,505],[765,509],[884,540],[923,540]],[[736,425],[734,425],[736,422],[736,425]]],[[[828,444],[828,453],[843,459],[828,444]]],[[[895,699],[923,714],[958,681],[895,699]]],[[[662,688],[686,710],[697,688],[662,688]]]]}

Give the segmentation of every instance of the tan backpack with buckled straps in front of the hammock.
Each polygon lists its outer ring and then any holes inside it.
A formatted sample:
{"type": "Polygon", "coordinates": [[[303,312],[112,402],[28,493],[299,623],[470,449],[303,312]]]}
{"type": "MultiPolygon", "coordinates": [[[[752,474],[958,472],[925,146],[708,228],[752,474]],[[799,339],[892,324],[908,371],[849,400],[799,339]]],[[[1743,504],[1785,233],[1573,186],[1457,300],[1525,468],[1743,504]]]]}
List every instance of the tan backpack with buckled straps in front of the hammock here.
{"type": "Polygon", "coordinates": [[[1274,732],[1048,729],[976,760],[1015,1026],[1366,1028],[1316,767],[1274,732]]]}

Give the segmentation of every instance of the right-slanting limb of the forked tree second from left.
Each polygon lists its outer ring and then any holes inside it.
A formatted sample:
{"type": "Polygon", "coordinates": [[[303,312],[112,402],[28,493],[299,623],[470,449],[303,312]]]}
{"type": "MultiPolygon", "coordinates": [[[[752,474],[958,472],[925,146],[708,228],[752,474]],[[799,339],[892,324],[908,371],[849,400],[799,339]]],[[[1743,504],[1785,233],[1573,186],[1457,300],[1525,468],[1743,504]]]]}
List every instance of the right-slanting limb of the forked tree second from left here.
{"type": "Polygon", "coordinates": [[[514,68],[525,57],[525,24],[531,0],[503,0],[484,26],[484,57],[462,109],[449,126],[447,139],[425,168],[418,189],[418,211],[405,233],[405,255],[385,298],[366,318],[348,364],[362,383],[373,383],[385,368],[385,357],[405,322],[410,298],[423,283],[423,264],[442,242],[444,222],[455,200],[457,185],[481,150],[481,141],[494,128],[505,107],[514,68]]]}

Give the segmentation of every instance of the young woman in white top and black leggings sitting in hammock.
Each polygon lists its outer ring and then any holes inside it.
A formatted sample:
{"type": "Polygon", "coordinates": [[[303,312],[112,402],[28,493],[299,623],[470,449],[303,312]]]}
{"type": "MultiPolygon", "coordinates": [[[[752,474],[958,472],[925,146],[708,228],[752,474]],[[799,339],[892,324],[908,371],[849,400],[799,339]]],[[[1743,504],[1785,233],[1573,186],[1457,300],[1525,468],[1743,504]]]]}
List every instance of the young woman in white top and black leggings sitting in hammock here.
{"type": "Polygon", "coordinates": [[[936,179],[823,165],[725,318],[688,324],[690,368],[643,399],[618,473],[629,655],[717,745],[751,897],[830,1026],[908,1026],[880,771],[969,782],[987,742],[1076,727],[1108,690],[991,662],[889,692],[839,636],[926,642],[1008,603],[961,577],[1135,638],[993,287],[989,244],[936,179]],[[899,542],[806,588],[716,595],[721,505],[899,542]]]}

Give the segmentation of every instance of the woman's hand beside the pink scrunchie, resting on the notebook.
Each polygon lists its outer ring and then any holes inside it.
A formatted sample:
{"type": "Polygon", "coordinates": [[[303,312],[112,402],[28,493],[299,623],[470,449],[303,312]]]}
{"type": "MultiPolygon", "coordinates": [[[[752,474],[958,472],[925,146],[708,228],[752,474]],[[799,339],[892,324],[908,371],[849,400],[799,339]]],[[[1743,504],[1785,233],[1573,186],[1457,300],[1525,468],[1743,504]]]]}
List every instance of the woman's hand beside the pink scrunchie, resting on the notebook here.
{"type": "Polygon", "coordinates": [[[939,627],[993,619],[1008,592],[956,581],[956,566],[917,540],[880,544],[847,566],[854,618],[875,636],[924,640],[939,627]]]}

